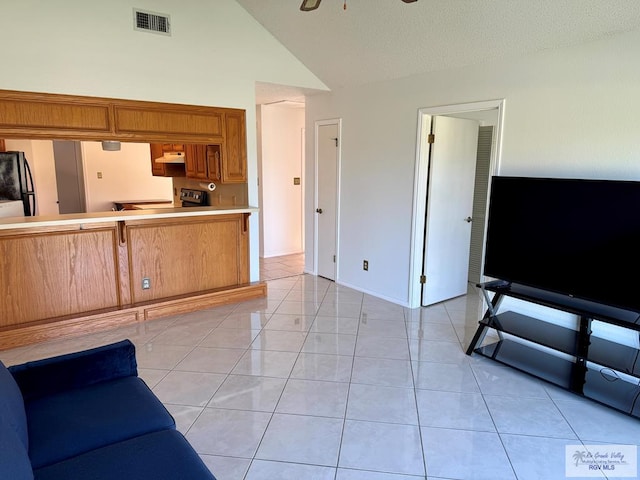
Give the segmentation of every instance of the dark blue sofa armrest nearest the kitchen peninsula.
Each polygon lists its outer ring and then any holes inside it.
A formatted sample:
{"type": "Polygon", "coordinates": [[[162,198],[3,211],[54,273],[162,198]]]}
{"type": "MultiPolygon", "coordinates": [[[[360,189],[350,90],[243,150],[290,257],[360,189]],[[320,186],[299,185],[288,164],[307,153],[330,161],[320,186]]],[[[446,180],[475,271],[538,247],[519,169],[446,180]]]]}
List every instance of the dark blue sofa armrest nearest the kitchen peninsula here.
{"type": "Polygon", "coordinates": [[[130,340],[14,365],[9,371],[25,401],[138,375],[135,346],[130,340]]]}

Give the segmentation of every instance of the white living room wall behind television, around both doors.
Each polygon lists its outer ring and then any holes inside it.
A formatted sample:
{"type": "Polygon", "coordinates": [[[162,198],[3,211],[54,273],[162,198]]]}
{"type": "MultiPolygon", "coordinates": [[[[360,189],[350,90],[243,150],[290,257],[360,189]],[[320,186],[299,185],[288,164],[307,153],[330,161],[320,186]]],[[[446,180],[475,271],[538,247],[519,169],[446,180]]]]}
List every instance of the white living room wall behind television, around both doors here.
{"type": "MultiPolygon", "coordinates": [[[[636,31],[308,97],[306,251],[314,238],[314,121],[343,120],[337,281],[406,305],[418,109],[504,98],[501,174],[640,180],[638,58],[636,31]]],[[[306,262],[312,271],[311,255],[306,262]]]]}

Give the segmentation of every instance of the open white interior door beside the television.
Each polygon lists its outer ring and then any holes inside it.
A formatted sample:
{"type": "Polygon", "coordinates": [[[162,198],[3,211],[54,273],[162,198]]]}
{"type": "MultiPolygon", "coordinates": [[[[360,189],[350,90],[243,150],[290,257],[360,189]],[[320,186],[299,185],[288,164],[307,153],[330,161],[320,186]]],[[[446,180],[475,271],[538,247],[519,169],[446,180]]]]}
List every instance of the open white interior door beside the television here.
{"type": "Polygon", "coordinates": [[[433,117],[422,305],[467,293],[478,122],[433,117]]]}

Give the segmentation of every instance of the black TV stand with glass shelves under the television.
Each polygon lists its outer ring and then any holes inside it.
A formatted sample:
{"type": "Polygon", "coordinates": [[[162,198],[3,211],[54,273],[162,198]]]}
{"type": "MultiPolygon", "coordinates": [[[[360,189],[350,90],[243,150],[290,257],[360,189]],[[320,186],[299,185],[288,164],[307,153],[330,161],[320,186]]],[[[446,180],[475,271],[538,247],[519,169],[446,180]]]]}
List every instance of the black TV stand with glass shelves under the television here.
{"type": "Polygon", "coordinates": [[[504,281],[477,286],[487,310],[478,322],[467,355],[478,353],[640,418],[640,349],[591,335],[592,322],[640,332],[638,312],[504,281]],[[505,297],[577,315],[578,329],[516,312],[498,313],[505,297]],[[481,346],[489,329],[497,332],[499,340],[481,346]]]}

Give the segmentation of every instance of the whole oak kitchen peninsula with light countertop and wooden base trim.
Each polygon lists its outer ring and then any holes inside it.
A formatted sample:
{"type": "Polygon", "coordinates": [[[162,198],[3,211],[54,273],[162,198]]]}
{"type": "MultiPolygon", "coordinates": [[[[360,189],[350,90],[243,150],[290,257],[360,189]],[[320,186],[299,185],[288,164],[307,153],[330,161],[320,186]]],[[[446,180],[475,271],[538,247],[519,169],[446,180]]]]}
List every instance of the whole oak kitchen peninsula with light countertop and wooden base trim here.
{"type": "Polygon", "coordinates": [[[0,349],[266,296],[256,207],[0,219],[0,349]]]}

